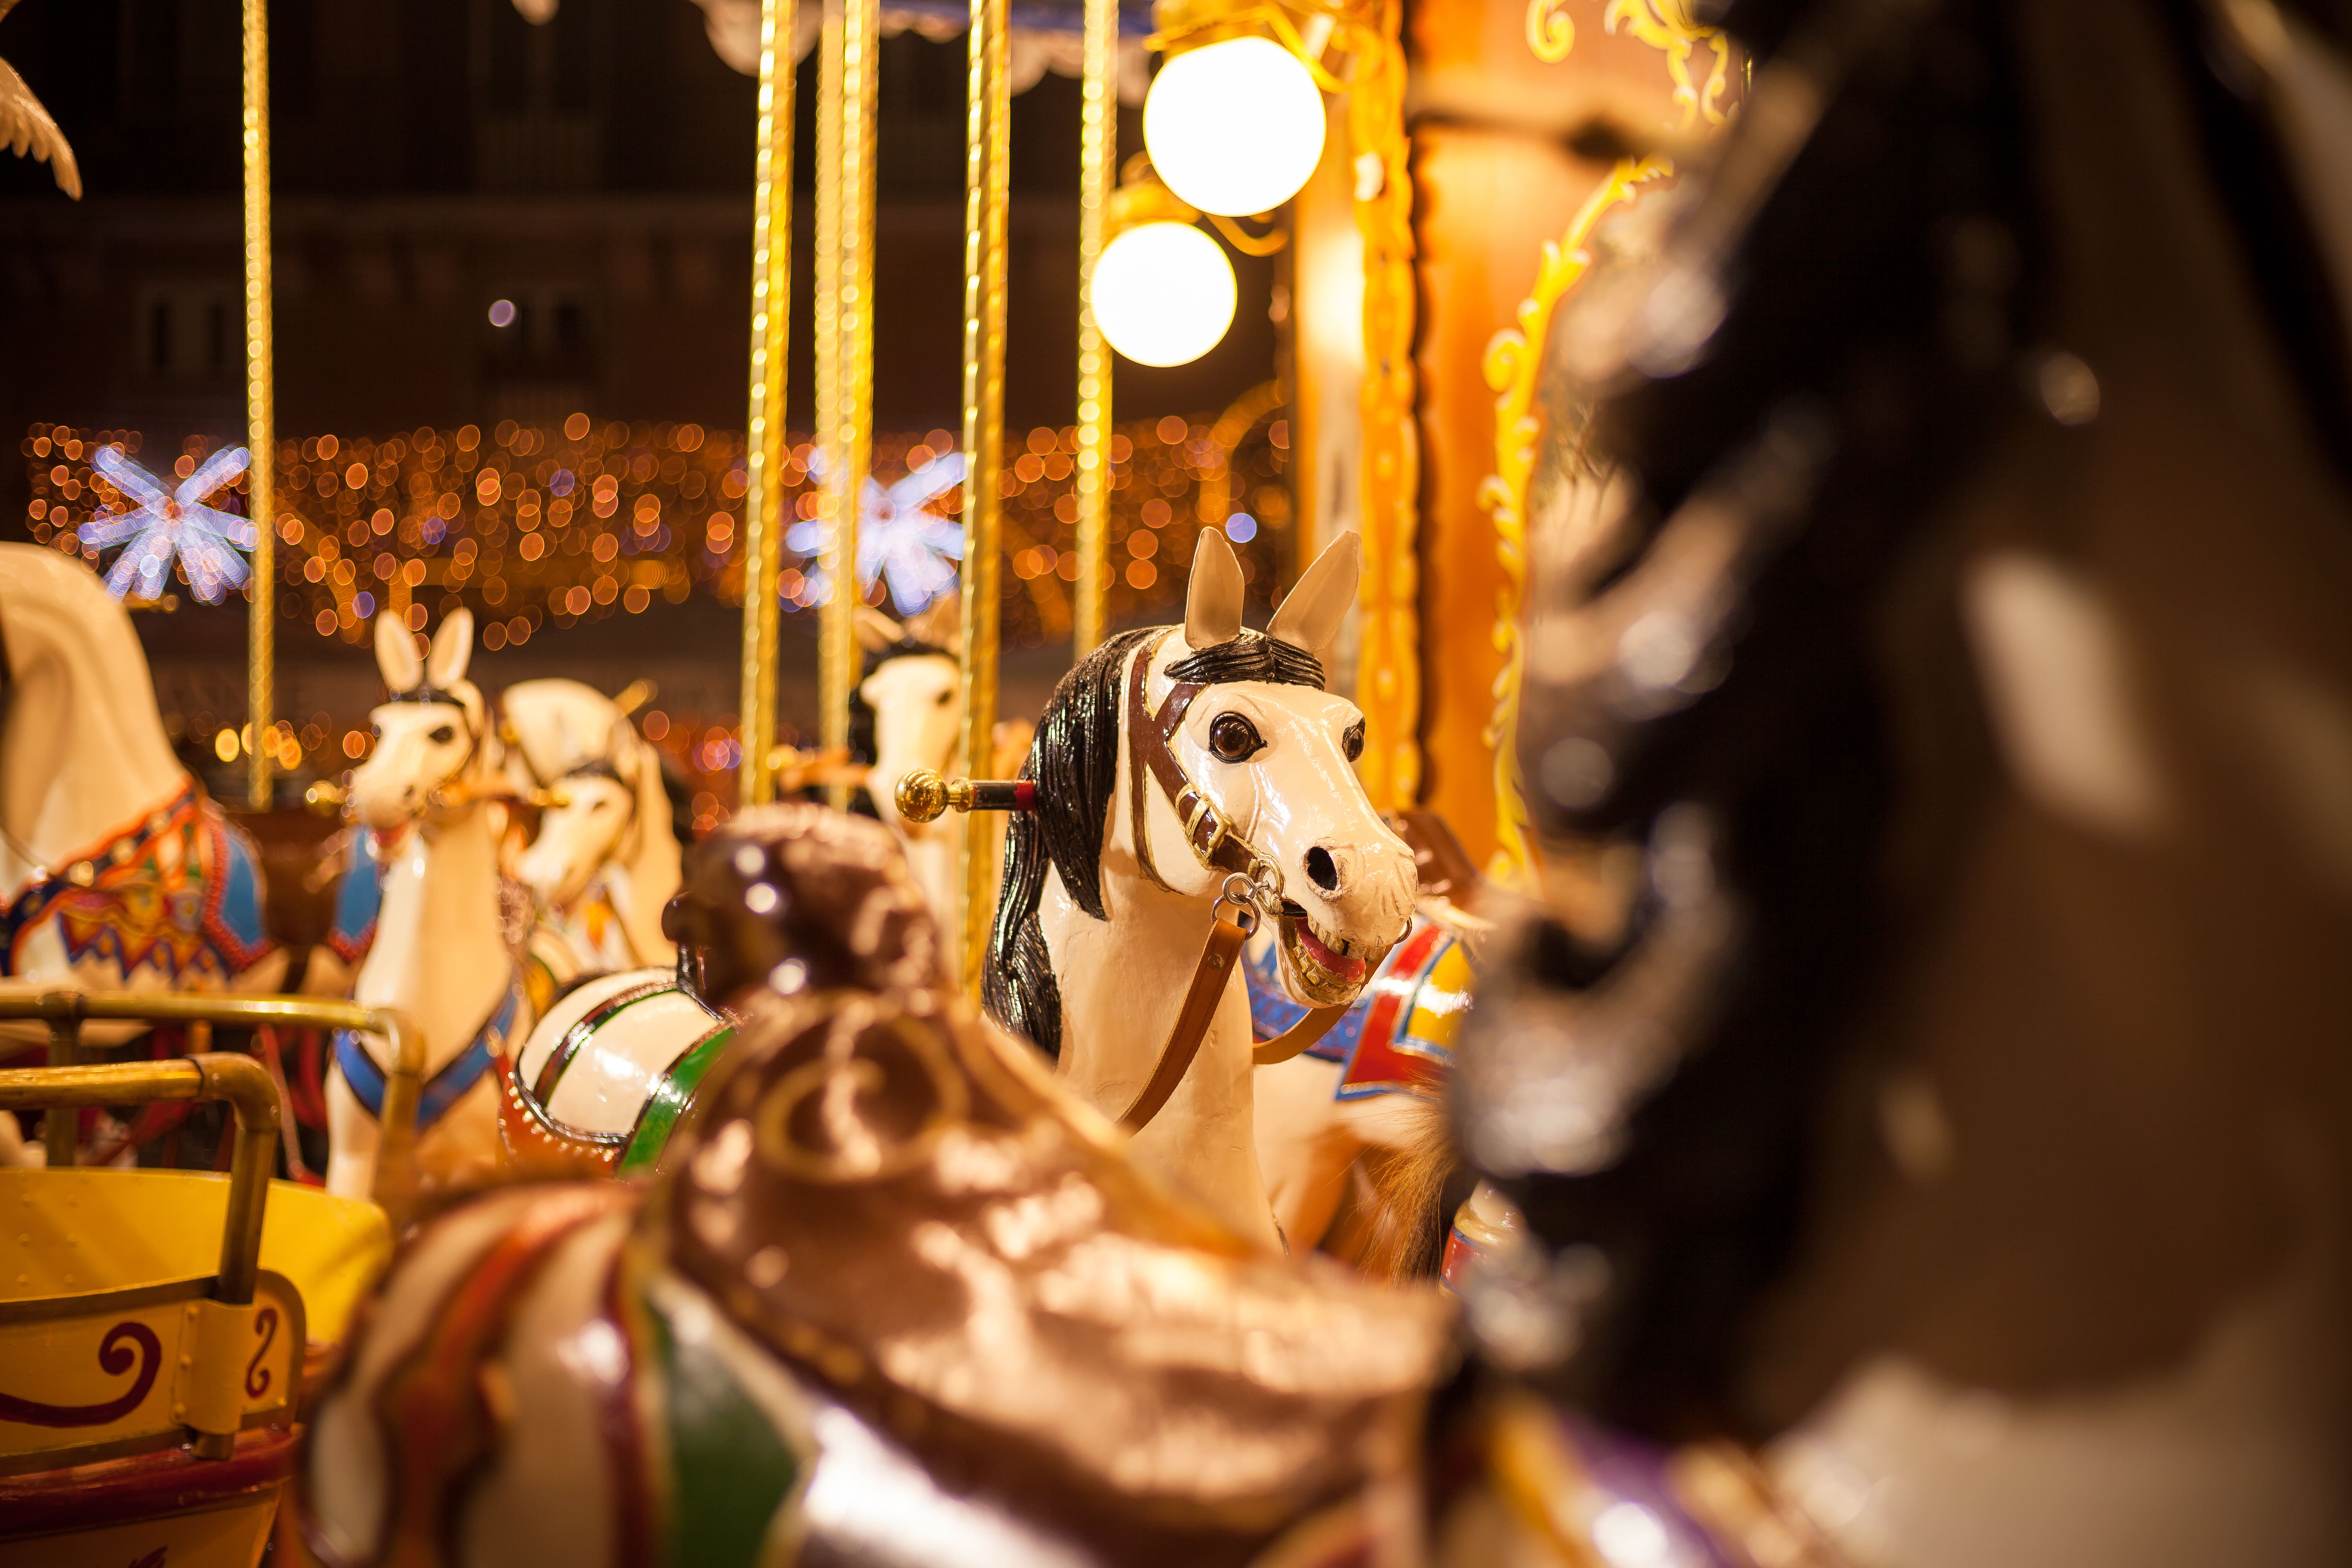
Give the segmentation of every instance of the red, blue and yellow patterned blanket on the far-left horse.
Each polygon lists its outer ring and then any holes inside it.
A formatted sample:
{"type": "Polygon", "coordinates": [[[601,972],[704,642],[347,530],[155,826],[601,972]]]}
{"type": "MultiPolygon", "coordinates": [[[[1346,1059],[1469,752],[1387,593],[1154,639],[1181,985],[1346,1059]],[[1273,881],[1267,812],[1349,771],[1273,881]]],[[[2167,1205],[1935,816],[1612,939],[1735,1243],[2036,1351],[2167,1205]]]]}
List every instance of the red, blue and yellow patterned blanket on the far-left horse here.
{"type": "Polygon", "coordinates": [[[261,900],[261,851],[188,778],[0,910],[0,973],[61,954],[96,985],[221,990],[275,950],[261,900]]]}

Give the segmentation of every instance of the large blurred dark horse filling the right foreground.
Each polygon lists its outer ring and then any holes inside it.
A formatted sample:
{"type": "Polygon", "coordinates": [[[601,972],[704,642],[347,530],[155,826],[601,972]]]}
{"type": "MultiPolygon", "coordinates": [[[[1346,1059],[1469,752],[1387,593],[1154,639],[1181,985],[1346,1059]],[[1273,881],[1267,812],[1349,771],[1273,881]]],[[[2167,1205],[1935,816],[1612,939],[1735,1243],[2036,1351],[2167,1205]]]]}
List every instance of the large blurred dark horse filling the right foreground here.
{"type": "Polygon", "coordinates": [[[1548,343],[1522,773],[1637,875],[1463,1034],[1442,1559],[2352,1561],[2345,16],[1724,26],[1548,343]]]}

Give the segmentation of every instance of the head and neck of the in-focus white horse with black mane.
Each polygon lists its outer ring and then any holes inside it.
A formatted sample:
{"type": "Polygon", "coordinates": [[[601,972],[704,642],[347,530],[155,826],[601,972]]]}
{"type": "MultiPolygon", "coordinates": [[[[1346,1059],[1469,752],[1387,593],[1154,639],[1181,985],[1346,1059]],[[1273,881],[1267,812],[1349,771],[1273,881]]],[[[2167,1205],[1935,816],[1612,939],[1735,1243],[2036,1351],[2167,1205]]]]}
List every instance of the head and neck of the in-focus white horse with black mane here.
{"type": "Polygon", "coordinates": [[[1254,1051],[1249,994],[1211,973],[1202,938],[1249,905],[1275,931],[1279,992],[1327,1030],[1414,910],[1414,856],[1350,766],[1364,719],[1324,691],[1355,581],[1357,536],[1341,534],[1268,632],[1247,632],[1232,545],[1202,531],[1185,623],[1108,639],[1047,703],[990,943],[990,1016],[1261,1244],[1277,1227],[1251,1065],[1279,1046],[1254,1051]]]}

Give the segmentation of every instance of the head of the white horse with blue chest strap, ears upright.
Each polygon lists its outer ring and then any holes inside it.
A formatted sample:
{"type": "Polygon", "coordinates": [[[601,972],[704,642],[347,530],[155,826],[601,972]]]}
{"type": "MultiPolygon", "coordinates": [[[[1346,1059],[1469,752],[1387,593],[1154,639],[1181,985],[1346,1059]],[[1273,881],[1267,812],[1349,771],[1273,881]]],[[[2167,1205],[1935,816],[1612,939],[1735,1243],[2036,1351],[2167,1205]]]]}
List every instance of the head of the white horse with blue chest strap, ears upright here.
{"type": "Polygon", "coordinates": [[[400,616],[376,616],[376,668],[390,696],[369,715],[376,745],[350,773],[350,809],[379,839],[463,804],[480,783],[487,708],[466,679],[470,658],[470,609],[442,621],[428,656],[400,616]]]}

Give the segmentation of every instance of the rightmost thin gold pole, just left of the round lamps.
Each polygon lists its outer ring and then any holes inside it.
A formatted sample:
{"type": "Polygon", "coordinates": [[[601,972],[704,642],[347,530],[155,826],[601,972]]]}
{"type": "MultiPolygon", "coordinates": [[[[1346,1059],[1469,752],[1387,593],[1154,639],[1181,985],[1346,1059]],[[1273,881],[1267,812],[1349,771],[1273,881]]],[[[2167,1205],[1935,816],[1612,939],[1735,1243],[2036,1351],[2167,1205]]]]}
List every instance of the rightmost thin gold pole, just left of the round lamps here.
{"type": "Polygon", "coordinates": [[[1120,162],[1120,0],[1087,0],[1087,82],[1077,141],[1077,592],[1070,651],[1103,642],[1110,607],[1110,348],[1094,322],[1094,263],[1103,256],[1110,181],[1120,162]]]}

